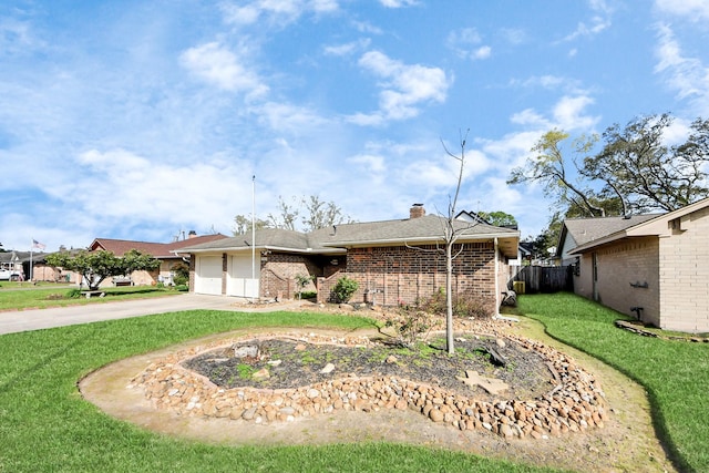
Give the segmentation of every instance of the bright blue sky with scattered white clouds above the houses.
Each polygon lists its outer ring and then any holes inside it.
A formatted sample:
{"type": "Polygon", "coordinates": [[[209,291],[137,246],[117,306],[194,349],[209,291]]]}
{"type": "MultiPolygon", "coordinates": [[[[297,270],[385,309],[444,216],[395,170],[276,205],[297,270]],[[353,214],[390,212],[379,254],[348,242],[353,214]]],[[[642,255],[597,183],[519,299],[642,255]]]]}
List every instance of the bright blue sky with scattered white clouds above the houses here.
{"type": "Polygon", "coordinates": [[[547,224],[505,185],[554,127],[709,117],[709,2],[9,1],[0,243],[229,235],[317,195],[359,222],[458,209],[547,224]]]}

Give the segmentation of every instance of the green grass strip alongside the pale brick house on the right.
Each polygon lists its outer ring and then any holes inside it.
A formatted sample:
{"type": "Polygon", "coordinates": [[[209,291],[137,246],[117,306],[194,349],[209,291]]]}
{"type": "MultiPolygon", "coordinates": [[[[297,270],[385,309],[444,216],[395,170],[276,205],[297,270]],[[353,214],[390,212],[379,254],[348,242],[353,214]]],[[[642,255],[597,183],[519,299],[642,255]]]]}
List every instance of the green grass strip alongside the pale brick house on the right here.
{"type": "Polygon", "coordinates": [[[548,335],[643,384],[655,429],[680,471],[709,471],[709,343],[641,337],[625,316],[571,294],[521,296],[517,311],[548,335]]]}

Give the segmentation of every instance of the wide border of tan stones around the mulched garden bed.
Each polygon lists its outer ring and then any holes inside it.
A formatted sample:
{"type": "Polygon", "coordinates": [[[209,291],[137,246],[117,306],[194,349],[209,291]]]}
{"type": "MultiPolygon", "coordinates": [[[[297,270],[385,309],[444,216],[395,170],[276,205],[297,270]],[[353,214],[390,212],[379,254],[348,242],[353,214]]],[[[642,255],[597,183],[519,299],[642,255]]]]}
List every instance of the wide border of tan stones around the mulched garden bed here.
{"type": "Polygon", "coordinates": [[[292,422],[339,410],[376,412],[411,409],[460,430],[490,431],[506,439],[541,439],[603,428],[605,397],[594,378],[557,350],[541,342],[506,336],[535,350],[547,362],[557,383],[530,401],[479,401],[440,387],[397,377],[342,377],[297,389],[219,388],[181,363],[205,351],[264,338],[296,339],[308,343],[369,345],[367,337],[323,337],[278,333],[220,340],[169,354],[133,378],[129,389],[142,389],[157,408],[179,415],[230,418],[255,423],[292,422]]]}

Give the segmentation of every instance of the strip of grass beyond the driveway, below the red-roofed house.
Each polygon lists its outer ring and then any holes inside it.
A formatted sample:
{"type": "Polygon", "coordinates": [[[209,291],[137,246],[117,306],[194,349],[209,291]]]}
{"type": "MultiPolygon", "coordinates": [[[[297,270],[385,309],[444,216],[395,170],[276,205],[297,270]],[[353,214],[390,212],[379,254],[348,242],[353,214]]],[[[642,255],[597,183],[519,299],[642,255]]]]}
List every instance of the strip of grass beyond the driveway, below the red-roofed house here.
{"type": "MultiPolygon", "coordinates": [[[[27,285],[27,282],[25,282],[27,285]]],[[[101,289],[105,297],[69,297],[76,289],[66,286],[20,286],[18,282],[3,282],[0,288],[0,310],[10,309],[45,309],[48,307],[64,307],[84,304],[101,304],[116,300],[142,299],[181,294],[174,289],[156,288],[152,286],[112,287],[101,289]]]]}

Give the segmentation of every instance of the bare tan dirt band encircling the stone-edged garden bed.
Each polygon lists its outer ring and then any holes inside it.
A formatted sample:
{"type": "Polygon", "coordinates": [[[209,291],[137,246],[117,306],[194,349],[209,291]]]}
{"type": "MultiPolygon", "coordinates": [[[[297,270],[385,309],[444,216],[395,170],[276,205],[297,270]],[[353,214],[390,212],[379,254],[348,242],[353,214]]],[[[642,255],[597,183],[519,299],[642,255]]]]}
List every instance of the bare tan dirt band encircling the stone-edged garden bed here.
{"type": "MultiPolygon", "coordinates": [[[[516,325],[514,331],[531,332],[536,339],[544,339],[538,327],[528,322],[516,325]]],[[[335,337],[342,335],[325,331],[319,333],[335,337]]],[[[168,353],[206,346],[218,339],[243,338],[246,335],[220,335],[122,360],[82,380],[81,392],[89,401],[119,419],[156,432],[219,444],[279,445],[388,441],[576,471],[672,471],[653,435],[645,392],[615,370],[563,346],[556,348],[573,356],[599,380],[605,390],[612,415],[603,429],[592,429],[563,438],[505,440],[492,433],[461,431],[434,423],[411,410],[387,409],[377,412],[338,411],[299,418],[294,422],[254,424],[240,419],[205,419],[158,411],[142,391],[126,388],[145,367],[168,353]]],[[[551,342],[547,339],[544,341],[551,342]]]]}

